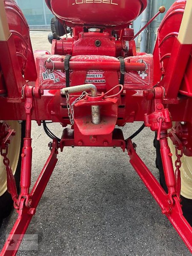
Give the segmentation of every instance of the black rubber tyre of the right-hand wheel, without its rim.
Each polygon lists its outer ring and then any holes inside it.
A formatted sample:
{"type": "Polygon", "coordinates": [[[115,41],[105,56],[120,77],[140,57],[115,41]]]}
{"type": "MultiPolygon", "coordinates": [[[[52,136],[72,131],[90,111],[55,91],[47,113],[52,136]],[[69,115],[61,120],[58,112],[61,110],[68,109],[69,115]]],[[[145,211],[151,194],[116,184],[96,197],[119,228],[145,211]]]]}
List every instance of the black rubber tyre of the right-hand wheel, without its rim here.
{"type": "MultiPolygon", "coordinates": [[[[167,186],[165,183],[165,176],[164,176],[163,164],[162,164],[161,153],[160,153],[160,143],[157,140],[157,134],[155,135],[155,139],[154,139],[154,147],[156,148],[156,167],[157,169],[159,169],[159,183],[162,186],[162,188],[165,190],[165,192],[168,193],[167,186]]],[[[174,154],[174,152],[172,153],[174,154]]],[[[183,216],[192,227],[192,199],[188,199],[184,196],[181,196],[181,204],[182,204],[183,216]]]]}

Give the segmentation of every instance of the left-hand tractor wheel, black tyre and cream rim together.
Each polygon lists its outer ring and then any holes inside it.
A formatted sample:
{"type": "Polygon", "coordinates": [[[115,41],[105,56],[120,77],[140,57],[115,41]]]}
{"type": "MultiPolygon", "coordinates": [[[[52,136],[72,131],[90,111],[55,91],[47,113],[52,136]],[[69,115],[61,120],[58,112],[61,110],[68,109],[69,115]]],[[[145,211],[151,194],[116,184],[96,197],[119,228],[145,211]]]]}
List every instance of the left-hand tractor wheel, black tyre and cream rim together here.
{"type": "MultiPolygon", "coordinates": [[[[17,190],[19,191],[20,170],[21,170],[21,151],[23,147],[23,138],[25,136],[25,122],[21,124],[18,121],[7,121],[12,129],[16,131],[16,135],[12,138],[8,149],[8,158],[10,166],[15,176],[17,190]]],[[[11,195],[7,191],[6,170],[3,164],[3,157],[0,156],[0,226],[2,220],[9,216],[13,208],[11,195]]]]}

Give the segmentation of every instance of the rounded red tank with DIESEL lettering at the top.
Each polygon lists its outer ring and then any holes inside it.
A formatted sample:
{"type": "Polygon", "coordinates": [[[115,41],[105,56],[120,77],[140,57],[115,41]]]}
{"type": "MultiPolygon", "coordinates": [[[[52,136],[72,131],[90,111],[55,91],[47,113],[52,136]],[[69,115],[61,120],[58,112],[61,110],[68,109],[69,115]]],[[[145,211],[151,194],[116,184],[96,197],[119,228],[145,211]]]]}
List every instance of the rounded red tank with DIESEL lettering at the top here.
{"type": "MultiPolygon", "coordinates": [[[[85,26],[123,26],[135,20],[147,0],[45,0],[61,20],[85,26]]],[[[74,25],[72,25],[73,27],[74,25]]]]}

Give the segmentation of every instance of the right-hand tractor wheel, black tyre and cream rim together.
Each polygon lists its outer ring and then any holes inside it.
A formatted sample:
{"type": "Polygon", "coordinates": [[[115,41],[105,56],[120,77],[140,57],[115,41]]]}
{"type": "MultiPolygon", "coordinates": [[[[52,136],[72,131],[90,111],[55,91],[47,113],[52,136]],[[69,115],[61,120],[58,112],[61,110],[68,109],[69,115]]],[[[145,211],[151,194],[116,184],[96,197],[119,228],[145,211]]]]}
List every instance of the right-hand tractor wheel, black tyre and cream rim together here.
{"type": "MultiPolygon", "coordinates": [[[[172,156],[173,163],[175,163],[175,160],[176,160],[175,147],[171,141],[169,141],[169,146],[173,154],[172,156]]],[[[162,164],[161,153],[160,153],[160,143],[157,140],[157,134],[155,135],[155,139],[154,139],[154,147],[156,148],[156,167],[159,169],[160,185],[167,193],[168,191],[165,183],[165,176],[164,176],[163,164],[162,164]]],[[[182,161],[182,166],[180,168],[180,171],[181,171],[182,211],[183,211],[183,216],[186,218],[186,220],[192,227],[192,157],[183,156],[181,161],[182,161]]],[[[175,164],[173,164],[173,166],[175,166],[175,164]]]]}

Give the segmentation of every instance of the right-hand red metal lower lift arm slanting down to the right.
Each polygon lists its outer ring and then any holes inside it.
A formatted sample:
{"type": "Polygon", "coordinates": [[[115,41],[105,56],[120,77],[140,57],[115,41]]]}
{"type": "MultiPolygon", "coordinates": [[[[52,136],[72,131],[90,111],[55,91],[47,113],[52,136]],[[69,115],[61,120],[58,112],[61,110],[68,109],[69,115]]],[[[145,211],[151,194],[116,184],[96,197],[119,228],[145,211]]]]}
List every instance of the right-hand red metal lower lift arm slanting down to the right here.
{"type": "Polygon", "coordinates": [[[131,158],[130,163],[140,176],[145,186],[148,188],[151,195],[156,200],[157,204],[161,207],[162,213],[166,215],[166,217],[172,223],[178,234],[180,234],[183,242],[187,245],[190,252],[192,252],[192,228],[183,217],[181,205],[178,198],[174,196],[173,204],[170,204],[169,195],[165,193],[159,182],[149,171],[148,167],[137,155],[131,140],[128,141],[127,152],[131,158]]]}

